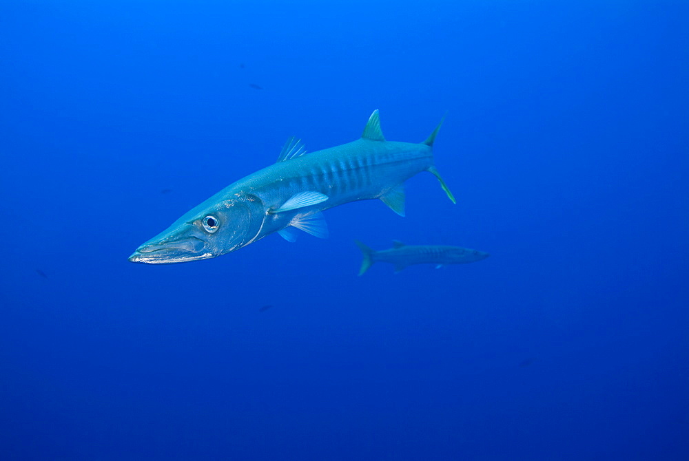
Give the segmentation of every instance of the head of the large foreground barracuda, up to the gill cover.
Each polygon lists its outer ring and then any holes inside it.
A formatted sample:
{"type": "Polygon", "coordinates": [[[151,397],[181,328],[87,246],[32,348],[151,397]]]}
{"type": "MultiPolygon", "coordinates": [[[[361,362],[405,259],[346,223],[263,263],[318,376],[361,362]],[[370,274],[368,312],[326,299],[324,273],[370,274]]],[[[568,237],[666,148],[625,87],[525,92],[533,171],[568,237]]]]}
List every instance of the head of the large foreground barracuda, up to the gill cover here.
{"type": "Polygon", "coordinates": [[[224,255],[253,242],[265,215],[263,203],[254,195],[228,200],[214,196],[139,246],[129,260],[174,264],[224,255]]]}

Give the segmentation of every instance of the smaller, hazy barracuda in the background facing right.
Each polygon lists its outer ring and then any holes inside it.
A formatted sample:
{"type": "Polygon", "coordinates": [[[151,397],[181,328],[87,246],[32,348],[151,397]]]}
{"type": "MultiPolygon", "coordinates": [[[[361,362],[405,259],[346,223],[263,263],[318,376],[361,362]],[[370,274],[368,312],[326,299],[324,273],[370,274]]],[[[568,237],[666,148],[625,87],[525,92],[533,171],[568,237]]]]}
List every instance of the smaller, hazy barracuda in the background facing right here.
{"type": "Polygon", "coordinates": [[[359,275],[364,275],[364,272],[378,261],[394,264],[396,273],[413,264],[435,264],[435,268],[439,269],[448,264],[473,263],[490,256],[484,251],[461,246],[405,245],[399,240],[393,240],[393,246],[389,250],[381,251],[373,250],[358,240],[354,243],[358,245],[364,256],[359,275]]]}

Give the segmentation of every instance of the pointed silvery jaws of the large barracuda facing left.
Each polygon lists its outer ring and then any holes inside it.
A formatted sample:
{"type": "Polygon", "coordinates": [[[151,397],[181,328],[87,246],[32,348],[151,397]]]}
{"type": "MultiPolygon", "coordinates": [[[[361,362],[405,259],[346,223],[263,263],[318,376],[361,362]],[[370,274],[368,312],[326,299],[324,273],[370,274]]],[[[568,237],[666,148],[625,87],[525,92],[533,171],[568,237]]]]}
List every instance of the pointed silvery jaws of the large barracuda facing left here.
{"type": "Polygon", "coordinates": [[[172,242],[146,242],[132,253],[129,260],[142,264],[176,264],[212,258],[206,243],[196,237],[185,237],[172,242]]]}

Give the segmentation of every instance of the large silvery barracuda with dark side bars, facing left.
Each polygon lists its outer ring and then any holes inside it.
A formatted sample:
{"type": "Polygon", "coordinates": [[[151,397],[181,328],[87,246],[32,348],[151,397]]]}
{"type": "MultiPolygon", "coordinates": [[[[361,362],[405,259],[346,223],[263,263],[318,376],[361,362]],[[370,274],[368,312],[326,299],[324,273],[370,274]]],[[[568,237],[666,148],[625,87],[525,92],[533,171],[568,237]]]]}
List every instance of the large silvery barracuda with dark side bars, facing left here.
{"type": "Polygon", "coordinates": [[[380,199],[404,216],[404,181],[430,171],[447,196],[450,190],[433,165],[433,141],[386,141],[378,110],[362,137],[322,151],[306,153],[289,138],[278,162],[230,184],[177,219],[129,257],[136,263],[172,264],[207,259],[238,250],[277,232],[289,242],[301,229],[328,235],[323,210],[356,200],[380,199]]]}

